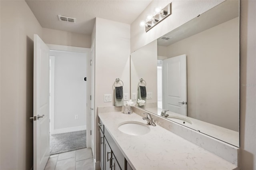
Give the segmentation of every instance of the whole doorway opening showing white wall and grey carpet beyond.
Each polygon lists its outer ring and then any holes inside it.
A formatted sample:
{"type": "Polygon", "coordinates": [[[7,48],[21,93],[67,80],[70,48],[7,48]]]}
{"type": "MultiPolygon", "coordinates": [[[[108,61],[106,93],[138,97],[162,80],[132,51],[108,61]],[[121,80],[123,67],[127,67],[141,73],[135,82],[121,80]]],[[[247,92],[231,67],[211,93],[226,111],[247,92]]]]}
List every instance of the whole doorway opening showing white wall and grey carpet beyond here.
{"type": "Polygon", "coordinates": [[[76,48],[56,50],[50,46],[50,155],[90,147],[87,145],[90,53],[76,48]]]}

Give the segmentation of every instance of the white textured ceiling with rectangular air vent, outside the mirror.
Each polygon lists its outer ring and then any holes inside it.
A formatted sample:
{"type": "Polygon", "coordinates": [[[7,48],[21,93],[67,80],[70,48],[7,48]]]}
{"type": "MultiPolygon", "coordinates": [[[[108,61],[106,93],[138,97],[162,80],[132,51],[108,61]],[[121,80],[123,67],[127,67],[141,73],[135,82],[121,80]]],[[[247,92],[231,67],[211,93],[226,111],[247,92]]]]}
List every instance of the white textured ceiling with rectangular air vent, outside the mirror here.
{"type": "Polygon", "coordinates": [[[152,0],[26,0],[43,28],[92,34],[96,17],[132,24],[152,0]],[[76,18],[76,24],[58,20],[76,18]]]}

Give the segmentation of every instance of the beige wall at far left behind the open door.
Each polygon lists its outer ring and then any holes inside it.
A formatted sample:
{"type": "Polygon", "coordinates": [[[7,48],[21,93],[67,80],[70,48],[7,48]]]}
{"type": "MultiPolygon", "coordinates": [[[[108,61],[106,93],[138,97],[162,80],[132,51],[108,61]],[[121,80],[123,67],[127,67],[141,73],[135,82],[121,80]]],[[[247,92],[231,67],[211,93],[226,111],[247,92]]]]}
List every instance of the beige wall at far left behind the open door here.
{"type": "Polygon", "coordinates": [[[34,34],[42,28],[23,0],[1,3],[1,170],[33,165],[34,34]]]}

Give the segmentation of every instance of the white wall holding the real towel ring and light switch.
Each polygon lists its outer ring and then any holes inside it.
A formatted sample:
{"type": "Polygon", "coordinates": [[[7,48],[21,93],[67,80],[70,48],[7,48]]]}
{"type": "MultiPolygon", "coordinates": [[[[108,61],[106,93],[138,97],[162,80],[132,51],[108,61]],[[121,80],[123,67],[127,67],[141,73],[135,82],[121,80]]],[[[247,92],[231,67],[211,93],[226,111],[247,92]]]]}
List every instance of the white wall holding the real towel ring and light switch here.
{"type": "MultiPolygon", "coordinates": [[[[113,84],[116,78],[124,82],[124,93],[130,94],[130,25],[96,18],[95,109],[114,105],[113,84]],[[112,102],[104,103],[104,94],[112,95],[112,102]]],[[[128,95],[130,98],[130,95],[128,95]]],[[[96,161],[100,159],[96,111],[96,161]]]]}

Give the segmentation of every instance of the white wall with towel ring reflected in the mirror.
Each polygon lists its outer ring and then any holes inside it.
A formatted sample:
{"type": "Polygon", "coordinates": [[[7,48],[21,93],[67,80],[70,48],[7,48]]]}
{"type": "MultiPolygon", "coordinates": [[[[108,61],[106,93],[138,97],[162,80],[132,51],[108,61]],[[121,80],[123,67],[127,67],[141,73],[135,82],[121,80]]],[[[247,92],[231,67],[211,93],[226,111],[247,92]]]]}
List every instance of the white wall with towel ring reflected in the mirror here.
{"type": "MultiPolygon", "coordinates": [[[[153,41],[137,51],[131,53],[131,93],[136,93],[137,103],[138,82],[140,78],[146,81],[147,93],[152,93],[152,99],[147,99],[146,103],[157,102],[157,41],[153,41]]],[[[144,85],[140,83],[140,85],[144,85]]]]}

